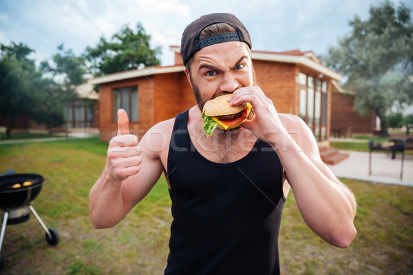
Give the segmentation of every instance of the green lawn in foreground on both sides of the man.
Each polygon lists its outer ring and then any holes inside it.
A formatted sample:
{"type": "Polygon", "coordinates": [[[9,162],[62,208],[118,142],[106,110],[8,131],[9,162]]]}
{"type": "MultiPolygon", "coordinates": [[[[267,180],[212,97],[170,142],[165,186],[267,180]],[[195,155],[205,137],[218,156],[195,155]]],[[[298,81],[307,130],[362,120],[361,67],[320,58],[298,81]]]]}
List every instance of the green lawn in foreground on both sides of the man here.
{"type": "MultiPolygon", "coordinates": [[[[88,217],[88,193],[106,159],[97,138],[0,144],[0,173],[45,177],[34,208],[60,243],[40,243],[7,256],[3,274],[162,274],[168,255],[171,202],[161,177],[149,195],[114,228],[95,230],[88,217]]],[[[328,245],[302,220],[293,192],[288,195],[279,250],[282,274],[412,274],[413,188],[343,179],[359,203],[358,233],[350,248],[328,245]]],[[[34,217],[6,227],[7,255],[44,239],[34,217]]]]}

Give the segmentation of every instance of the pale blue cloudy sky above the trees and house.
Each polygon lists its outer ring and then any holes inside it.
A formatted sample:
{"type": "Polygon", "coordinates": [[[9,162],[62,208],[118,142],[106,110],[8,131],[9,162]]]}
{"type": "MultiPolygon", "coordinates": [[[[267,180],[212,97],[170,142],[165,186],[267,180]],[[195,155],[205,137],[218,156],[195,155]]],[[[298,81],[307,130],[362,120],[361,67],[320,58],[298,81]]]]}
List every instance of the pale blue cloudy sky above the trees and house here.
{"type": "MultiPolygon", "coordinates": [[[[413,0],[391,0],[413,7],[413,0]]],[[[328,54],[350,33],[356,16],[369,17],[380,0],[0,0],[0,43],[24,43],[38,63],[62,43],[79,55],[104,37],[140,22],[160,46],[161,65],[173,65],[170,45],[180,45],[184,28],[211,12],[231,12],[246,26],[253,50],[313,51],[328,54]]],[[[412,13],[413,17],[413,13],[412,13]]]]}

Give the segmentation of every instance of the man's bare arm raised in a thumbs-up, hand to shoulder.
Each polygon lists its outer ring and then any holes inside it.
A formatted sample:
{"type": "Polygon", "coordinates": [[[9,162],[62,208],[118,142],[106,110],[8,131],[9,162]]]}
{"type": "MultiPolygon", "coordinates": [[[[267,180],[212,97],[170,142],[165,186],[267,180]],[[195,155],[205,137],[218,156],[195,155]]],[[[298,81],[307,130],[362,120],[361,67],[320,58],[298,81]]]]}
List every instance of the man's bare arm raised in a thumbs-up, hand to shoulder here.
{"type": "Polygon", "coordinates": [[[109,228],[124,219],[164,170],[160,156],[165,144],[153,144],[148,137],[153,131],[165,133],[165,124],[153,126],[139,144],[127,126],[122,127],[125,125],[119,126],[118,135],[109,142],[105,168],[89,193],[89,218],[95,228],[109,228]]]}

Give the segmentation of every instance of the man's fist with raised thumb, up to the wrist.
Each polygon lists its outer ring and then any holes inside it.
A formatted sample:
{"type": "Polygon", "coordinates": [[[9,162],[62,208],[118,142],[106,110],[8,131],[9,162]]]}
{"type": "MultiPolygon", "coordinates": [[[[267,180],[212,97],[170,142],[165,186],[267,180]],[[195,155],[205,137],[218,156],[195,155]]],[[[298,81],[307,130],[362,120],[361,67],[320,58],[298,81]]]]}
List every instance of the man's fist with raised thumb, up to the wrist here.
{"type": "Polygon", "coordinates": [[[139,172],[142,162],[138,137],[129,134],[129,119],[123,109],[118,110],[118,134],[109,142],[107,169],[109,179],[123,181],[139,172]]]}

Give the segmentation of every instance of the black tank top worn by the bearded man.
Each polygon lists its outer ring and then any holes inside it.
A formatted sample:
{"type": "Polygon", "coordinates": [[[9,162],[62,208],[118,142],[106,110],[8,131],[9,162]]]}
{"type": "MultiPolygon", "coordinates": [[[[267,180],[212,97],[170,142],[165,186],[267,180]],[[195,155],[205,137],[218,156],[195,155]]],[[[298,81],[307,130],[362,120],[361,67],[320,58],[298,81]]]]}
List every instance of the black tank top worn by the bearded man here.
{"type": "Polygon", "coordinates": [[[176,116],[167,177],[172,200],[165,274],[279,274],[283,168],[265,142],[218,164],[195,150],[188,111],[176,116]]]}

